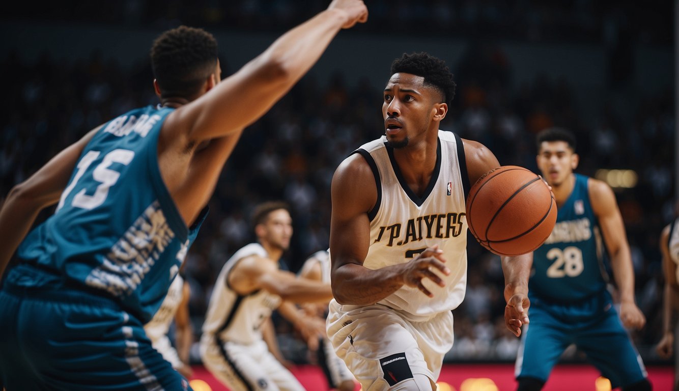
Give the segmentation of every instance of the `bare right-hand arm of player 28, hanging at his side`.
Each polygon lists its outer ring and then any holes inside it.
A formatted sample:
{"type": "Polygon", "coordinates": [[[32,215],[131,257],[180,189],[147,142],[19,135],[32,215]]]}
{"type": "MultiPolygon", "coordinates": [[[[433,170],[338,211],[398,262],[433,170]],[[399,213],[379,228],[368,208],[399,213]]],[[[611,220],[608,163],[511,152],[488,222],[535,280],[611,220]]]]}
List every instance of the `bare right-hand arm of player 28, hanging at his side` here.
{"type": "Polygon", "coordinates": [[[623,217],[612,189],[604,182],[589,179],[589,200],[601,227],[610,265],[620,292],[620,318],[625,327],[641,329],[646,317],[634,299],[634,267],[623,217]]]}

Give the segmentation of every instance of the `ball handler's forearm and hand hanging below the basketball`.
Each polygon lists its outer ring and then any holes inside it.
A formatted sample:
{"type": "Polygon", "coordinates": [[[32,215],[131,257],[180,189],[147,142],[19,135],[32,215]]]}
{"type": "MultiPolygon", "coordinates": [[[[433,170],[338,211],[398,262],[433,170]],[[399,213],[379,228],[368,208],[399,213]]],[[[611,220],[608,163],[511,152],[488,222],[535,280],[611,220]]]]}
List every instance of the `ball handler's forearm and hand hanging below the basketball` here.
{"type": "Polygon", "coordinates": [[[533,264],[533,253],[515,257],[500,257],[504,274],[504,325],[514,335],[521,335],[521,326],[528,324],[528,278],[533,264]]]}

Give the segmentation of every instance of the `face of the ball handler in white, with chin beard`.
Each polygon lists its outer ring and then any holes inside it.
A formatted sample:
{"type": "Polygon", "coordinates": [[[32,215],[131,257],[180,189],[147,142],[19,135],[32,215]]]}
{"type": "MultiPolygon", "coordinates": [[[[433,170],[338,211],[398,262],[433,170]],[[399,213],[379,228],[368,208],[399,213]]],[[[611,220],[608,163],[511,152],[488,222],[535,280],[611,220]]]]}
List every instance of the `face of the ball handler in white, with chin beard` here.
{"type": "MultiPolygon", "coordinates": [[[[433,124],[441,94],[424,86],[424,77],[410,73],[394,73],[384,88],[382,117],[387,141],[403,148],[422,137],[433,124]]],[[[438,125],[437,125],[438,128],[438,125]]]]}

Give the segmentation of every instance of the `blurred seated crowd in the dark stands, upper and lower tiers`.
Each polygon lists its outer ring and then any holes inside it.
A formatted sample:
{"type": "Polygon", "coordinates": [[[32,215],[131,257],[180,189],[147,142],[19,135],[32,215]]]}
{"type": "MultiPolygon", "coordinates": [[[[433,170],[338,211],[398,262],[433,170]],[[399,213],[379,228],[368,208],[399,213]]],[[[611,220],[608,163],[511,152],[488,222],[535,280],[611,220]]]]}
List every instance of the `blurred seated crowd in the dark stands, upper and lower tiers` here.
{"type": "MultiPolygon", "coordinates": [[[[66,1],[31,10],[33,19],[67,22],[152,25],[184,24],[215,29],[282,32],[322,10],[326,0],[66,1]],[[68,11],[67,11],[68,10],[68,11]]],[[[386,1],[369,5],[364,33],[403,35],[437,33],[483,39],[470,44],[456,74],[456,98],[442,122],[488,146],[503,165],[536,171],[534,134],[550,126],[570,128],[578,136],[579,172],[628,169],[635,187],[615,189],[636,271],[636,292],[648,323],[631,331],[647,363],[659,362],[653,345],[661,335],[661,284],[658,238],[674,216],[674,82],[653,94],[639,94],[625,106],[605,101],[583,115],[573,86],[559,77],[536,75],[514,86],[511,64],[489,38],[524,41],[602,43],[610,40],[612,61],[606,94],[621,94],[629,43],[665,45],[672,41],[672,4],[632,8],[627,1],[386,1]],[[568,5],[565,5],[568,3],[568,5]],[[634,22],[629,18],[634,12],[634,22]],[[398,21],[398,22],[395,22],[398,21]],[[614,37],[611,32],[614,31],[614,37]],[[481,43],[482,42],[482,43],[481,43]],[[632,103],[634,102],[634,103],[632,103]],[[624,115],[621,115],[621,111],[624,115]]],[[[8,17],[27,17],[18,6],[8,17]]],[[[149,64],[125,69],[105,54],[71,63],[48,55],[26,62],[19,52],[0,57],[5,75],[0,97],[0,195],[26,179],[50,157],[88,130],[116,115],[156,104],[149,64]]],[[[228,58],[222,60],[225,75],[228,58]]],[[[363,79],[350,86],[342,75],[305,77],[260,121],[248,128],[223,171],[210,215],[187,257],[190,311],[200,335],[206,304],[221,266],[238,248],[254,240],[249,215],[265,200],[292,206],[295,234],[285,267],[297,272],[304,259],[328,246],[332,174],[351,151],[384,133],[381,115],[384,79],[363,79]]],[[[537,172],[537,171],[536,171],[537,172]]],[[[43,212],[44,218],[51,210],[43,212]]],[[[454,311],[456,343],[448,360],[513,360],[518,340],[504,329],[502,270],[498,257],[469,236],[469,282],[464,303],[454,311]]],[[[282,351],[295,362],[310,360],[304,343],[278,319],[282,351]]],[[[195,353],[195,352],[194,352],[195,353]]],[[[568,352],[577,359],[578,352],[568,352]]],[[[198,360],[198,355],[193,358],[198,360]]]]}

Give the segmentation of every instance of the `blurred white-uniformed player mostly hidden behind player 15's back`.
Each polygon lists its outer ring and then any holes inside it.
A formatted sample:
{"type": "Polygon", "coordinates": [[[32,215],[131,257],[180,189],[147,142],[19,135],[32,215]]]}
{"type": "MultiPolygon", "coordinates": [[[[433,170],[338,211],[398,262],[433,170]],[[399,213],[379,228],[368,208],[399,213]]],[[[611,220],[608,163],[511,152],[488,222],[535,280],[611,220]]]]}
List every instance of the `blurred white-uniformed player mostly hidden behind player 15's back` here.
{"type": "Polygon", "coordinates": [[[191,288],[181,273],[170,284],[168,294],[150,322],[144,325],[151,345],[172,364],[172,368],[189,378],[193,370],[189,365],[189,351],[194,342],[194,331],[189,318],[189,299],[191,288]],[[168,331],[172,320],[175,321],[175,346],[172,346],[168,331]]]}

